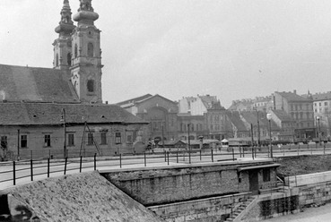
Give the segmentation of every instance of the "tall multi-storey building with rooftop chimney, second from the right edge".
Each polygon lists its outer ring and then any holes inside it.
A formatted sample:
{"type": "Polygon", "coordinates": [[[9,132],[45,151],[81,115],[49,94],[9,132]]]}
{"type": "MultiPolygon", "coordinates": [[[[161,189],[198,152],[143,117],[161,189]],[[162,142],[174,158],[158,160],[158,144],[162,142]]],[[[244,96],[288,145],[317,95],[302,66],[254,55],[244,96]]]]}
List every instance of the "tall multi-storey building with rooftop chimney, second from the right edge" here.
{"type": "Polygon", "coordinates": [[[304,98],[293,92],[274,92],[274,109],[283,110],[295,121],[296,140],[311,140],[316,136],[312,98],[304,98]]]}

